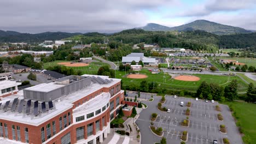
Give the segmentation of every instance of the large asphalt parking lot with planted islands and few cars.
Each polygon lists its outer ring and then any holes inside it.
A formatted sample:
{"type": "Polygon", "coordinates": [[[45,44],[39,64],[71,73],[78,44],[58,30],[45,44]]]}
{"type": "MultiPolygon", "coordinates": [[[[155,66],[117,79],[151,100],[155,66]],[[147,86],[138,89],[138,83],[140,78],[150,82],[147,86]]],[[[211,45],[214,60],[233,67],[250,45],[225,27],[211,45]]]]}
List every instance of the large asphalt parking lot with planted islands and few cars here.
{"type": "Polygon", "coordinates": [[[136,123],[142,132],[142,143],[159,142],[161,137],[155,136],[146,125],[150,125],[150,116],[152,113],[157,113],[158,117],[153,122],[155,127],[161,127],[164,130],[164,137],[167,143],[180,143],[183,131],[188,131],[188,141],[186,143],[212,143],[217,140],[218,143],[223,143],[223,138],[228,138],[230,143],[242,143],[241,136],[236,128],[234,119],[227,106],[219,105],[221,112],[215,110],[218,103],[211,103],[209,100],[206,103],[203,100],[196,101],[195,99],[166,95],[166,101],[162,104],[163,107],[170,109],[170,113],[158,110],[157,104],[161,97],[154,96],[154,101],[143,101],[148,105],[146,110],[140,113],[136,123]],[[184,106],[180,106],[181,101],[184,106]],[[191,107],[186,106],[188,101],[191,102],[191,107]],[[187,118],[185,111],[190,109],[189,125],[183,127],[181,123],[187,118]],[[224,121],[218,121],[217,114],[222,113],[224,121]],[[225,124],[227,134],[220,133],[219,125],[225,124]],[[144,132],[146,131],[146,132],[144,132]],[[146,133],[146,134],[143,134],[146,133]]]}

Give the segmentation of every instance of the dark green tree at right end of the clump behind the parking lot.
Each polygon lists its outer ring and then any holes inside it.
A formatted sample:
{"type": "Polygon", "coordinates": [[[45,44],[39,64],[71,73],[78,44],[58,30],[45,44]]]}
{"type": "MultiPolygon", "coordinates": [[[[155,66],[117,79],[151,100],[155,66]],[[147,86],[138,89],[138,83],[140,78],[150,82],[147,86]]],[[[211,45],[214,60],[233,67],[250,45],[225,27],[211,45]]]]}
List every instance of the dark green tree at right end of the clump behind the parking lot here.
{"type": "Polygon", "coordinates": [[[224,89],[224,97],[228,100],[234,100],[237,97],[237,81],[232,80],[224,89]]]}

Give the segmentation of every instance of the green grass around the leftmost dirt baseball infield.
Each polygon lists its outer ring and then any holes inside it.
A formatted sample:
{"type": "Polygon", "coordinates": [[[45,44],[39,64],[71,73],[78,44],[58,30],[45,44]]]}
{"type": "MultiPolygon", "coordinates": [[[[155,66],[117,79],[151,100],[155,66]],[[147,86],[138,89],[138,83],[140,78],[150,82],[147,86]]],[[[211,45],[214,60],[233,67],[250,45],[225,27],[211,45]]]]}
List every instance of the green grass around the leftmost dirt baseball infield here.
{"type": "MultiPolygon", "coordinates": [[[[44,63],[44,69],[47,69],[49,66],[53,67],[54,65],[58,65],[57,63],[60,63],[60,62],[69,62],[69,61],[54,61],[54,62],[44,63]]],[[[96,75],[98,68],[100,68],[103,65],[109,65],[109,64],[101,63],[101,62],[91,62],[90,65],[85,67],[70,67],[70,68],[73,68],[76,71],[81,70],[83,74],[96,75]]]]}

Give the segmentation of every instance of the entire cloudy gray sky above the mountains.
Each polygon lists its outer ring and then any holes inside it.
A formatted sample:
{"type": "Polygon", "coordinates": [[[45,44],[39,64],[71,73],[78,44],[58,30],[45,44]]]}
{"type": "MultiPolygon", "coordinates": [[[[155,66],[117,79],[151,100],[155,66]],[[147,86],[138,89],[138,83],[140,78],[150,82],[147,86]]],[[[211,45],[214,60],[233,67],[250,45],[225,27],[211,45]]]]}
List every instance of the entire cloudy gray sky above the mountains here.
{"type": "Polygon", "coordinates": [[[8,0],[0,29],[39,32],[117,32],[159,23],[173,27],[209,20],[256,30],[256,0],[8,0]]]}

